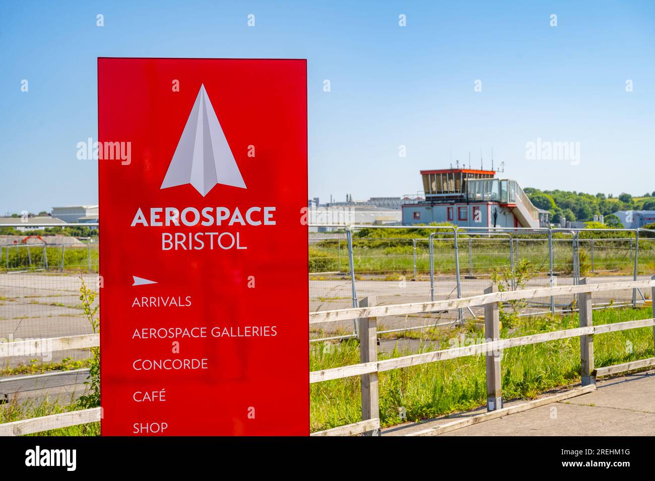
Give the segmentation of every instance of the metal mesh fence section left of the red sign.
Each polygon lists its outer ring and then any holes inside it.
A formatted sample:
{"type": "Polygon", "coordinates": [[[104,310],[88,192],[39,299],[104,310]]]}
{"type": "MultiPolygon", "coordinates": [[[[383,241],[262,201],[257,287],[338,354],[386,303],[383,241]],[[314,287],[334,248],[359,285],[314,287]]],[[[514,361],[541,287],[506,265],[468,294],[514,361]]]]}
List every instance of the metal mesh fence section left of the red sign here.
{"type": "MultiPolygon", "coordinates": [[[[82,279],[98,292],[98,241],[0,245],[0,342],[92,332],[80,300],[82,279]]],[[[36,361],[83,359],[84,349],[20,353],[0,368],[36,361]]]]}

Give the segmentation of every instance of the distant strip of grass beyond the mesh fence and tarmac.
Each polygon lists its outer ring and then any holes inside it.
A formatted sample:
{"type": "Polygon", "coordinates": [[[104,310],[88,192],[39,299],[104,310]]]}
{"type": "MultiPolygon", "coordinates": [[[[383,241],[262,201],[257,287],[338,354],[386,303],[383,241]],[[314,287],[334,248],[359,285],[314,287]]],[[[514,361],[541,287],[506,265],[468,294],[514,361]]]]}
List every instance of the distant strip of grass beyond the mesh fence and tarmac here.
{"type": "MultiPolygon", "coordinates": [[[[309,248],[310,272],[345,272],[348,270],[348,250],[345,243],[337,245],[334,241],[314,243],[309,248]]],[[[96,244],[97,245],[97,244],[96,244]]],[[[434,270],[436,274],[455,273],[455,254],[452,240],[435,240],[434,270]]],[[[460,272],[466,274],[469,265],[468,238],[458,242],[460,272]]],[[[555,272],[568,274],[572,271],[571,242],[557,240],[553,244],[555,272]]],[[[597,271],[612,271],[618,273],[632,272],[633,264],[630,255],[629,241],[611,239],[594,240],[594,268],[597,271]]],[[[581,249],[591,255],[589,240],[581,240],[581,249]]],[[[519,240],[517,255],[529,260],[536,272],[546,273],[549,270],[548,242],[543,238],[538,240],[519,240]]],[[[45,249],[48,266],[57,270],[62,264],[62,249],[52,246],[45,249]]],[[[6,268],[9,255],[9,270],[34,270],[43,268],[43,247],[3,248],[0,253],[0,269],[6,268]]],[[[472,240],[471,261],[475,274],[488,274],[494,268],[508,265],[510,260],[509,243],[503,241],[472,240]]],[[[413,244],[411,238],[400,240],[384,240],[375,238],[360,238],[354,241],[354,264],[358,274],[379,274],[390,276],[388,280],[396,280],[398,276],[407,278],[413,276],[413,244]],[[395,245],[394,245],[395,244],[395,245]]],[[[641,238],[639,241],[639,270],[652,272],[655,270],[655,240],[641,238]]],[[[64,249],[64,270],[79,272],[83,268],[87,272],[98,272],[98,249],[91,249],[91,269],[88,269],[88,249],[86,246],[67,247],[64,249]]],[[[590,268],[590,266],[589,266],[590,268]]],[[[430,270],[428,241],[417,241],[417,273],[425,275],[430,270]]],[[[585,273],[583,273],[585,274],[585,273]]]]}

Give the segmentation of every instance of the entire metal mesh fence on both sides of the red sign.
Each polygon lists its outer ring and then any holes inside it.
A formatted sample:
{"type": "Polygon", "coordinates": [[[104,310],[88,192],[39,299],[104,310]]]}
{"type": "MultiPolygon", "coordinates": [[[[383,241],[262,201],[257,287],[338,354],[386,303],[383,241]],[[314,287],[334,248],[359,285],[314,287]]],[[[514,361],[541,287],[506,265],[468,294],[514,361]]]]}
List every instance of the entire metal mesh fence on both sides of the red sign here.
{"type": "MultiPolygon", "coordinates": [[[[474,296],[493,283],[503,289],[529,289],[551,283],[575,285],[586,276],[594,283],[635,276],[649,279],[655,272],[655,232],[651,231],[640,230],[637,239],[636,232],[628,230],[553,230],[549,240],[546,230],[476,232],[462,228],[457,231],[457,243],[455,237],[452,229],[427,227],[353,228],[352,242],[346,231],[310,234],[310,310],[349,308],[365,297],[374,305],[405,304],[474,296]]],[[[0,339],[90,332],[79,301],[79,277],[97,290],[98,238],[68,240],[51,244],[31,239],[30,243],[0,245],[0,339]]],[[[649,300],[648,293],[636,289],[593,296],[597,307],[636,305],[645,300],[649,300]]],[[[521,314],[551,312],[553,308],[571,311],[575,303],[571,295],[533,298],[521,306],[521,314]]],[[[471,308],[385,317],[380,329],[450,326],[481,313],[481,308],[471,308]]],[[[346,321],[320,328],[312,327],[313,338],[352,334],[354,324],[346,321]]],[[[85,355],[53,353],[53,360],[85,355]]]]}

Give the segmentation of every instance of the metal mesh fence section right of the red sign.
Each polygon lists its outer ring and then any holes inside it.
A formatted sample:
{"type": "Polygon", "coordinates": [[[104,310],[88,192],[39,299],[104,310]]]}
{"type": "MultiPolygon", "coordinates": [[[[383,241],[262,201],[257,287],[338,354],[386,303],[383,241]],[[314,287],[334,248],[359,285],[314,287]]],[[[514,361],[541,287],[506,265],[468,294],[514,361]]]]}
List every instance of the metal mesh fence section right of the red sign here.
{"type": "MultiPolygon", "coordinates": [[[[445,228],[353,228],[352,273],[347,272],[347,235],[342,234],[342,249],[346,252],[341,255],[339,279],[316,275],[310,278],[310,295],[327,298],[329,294],[331,302],[310,304],[312,310],[326,310],[353,306],[353,297],[367,297],[369,305],[389,305],[474,296],[483,294],[492,284],[507,290],[577,285],[582,277],[589,277],[588,282],[593,283],[649,279],[655,272],[655,232],[641,230],[639,239],[636,234],[611,229],[476,232],[460,228],[455,236],[445,228]],[[432,274],[430,232],[434,232],[432,274]]],[[[318,258],[321,251],[324,257],[335,259],[331,265],[336,265],[337,251],[333,246],[316,244],[313,248],[314,252],[310,245],[310,265],[311,258],[318,258]]],[[[592,298],[596,308],[603,308],[637,305],[648,300],[648,295],[635,289],[595,293],[592,298]]],[[[576,302],[572,294],[531,298],[521,304],[520,315],[572,312],[577,308],[576,302]]],[[[449,326],[482,313],[481,308],[471,308],[465,312],[385,317],[380,329],[449,326]]],[[[355,327],[348,321],[332,325],[331,329],[332,334],[343,334],[354,332],[355,327]]]]}

